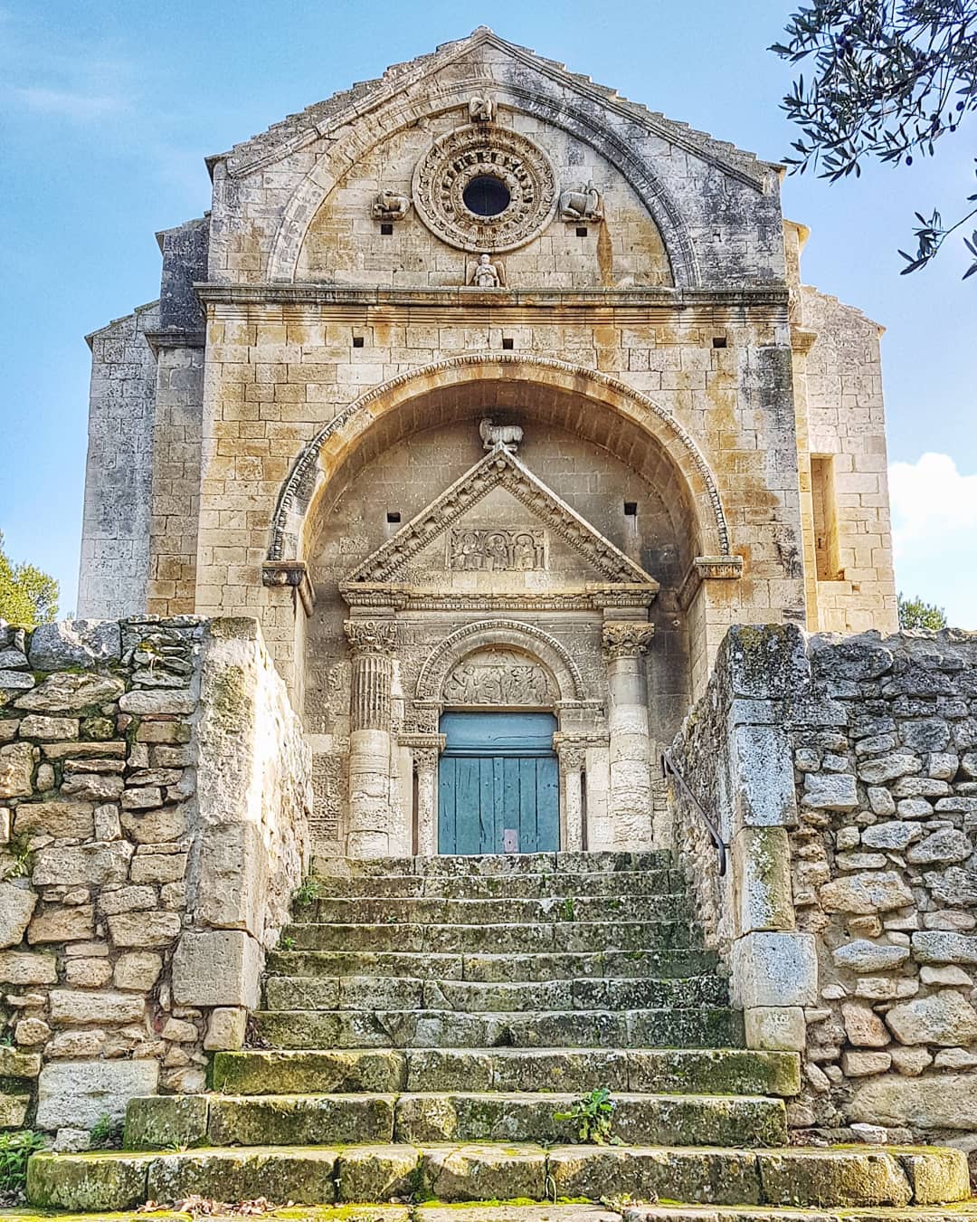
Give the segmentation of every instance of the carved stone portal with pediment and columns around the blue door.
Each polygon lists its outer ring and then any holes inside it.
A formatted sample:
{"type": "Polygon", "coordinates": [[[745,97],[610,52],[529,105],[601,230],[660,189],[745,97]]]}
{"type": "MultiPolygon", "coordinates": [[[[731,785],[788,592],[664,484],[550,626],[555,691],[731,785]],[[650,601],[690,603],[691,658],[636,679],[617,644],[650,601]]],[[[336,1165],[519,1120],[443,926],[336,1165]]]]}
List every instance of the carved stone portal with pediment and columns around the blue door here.
{"type": "Polygon", "coordinates": [[[485,457],[340,587],[352,656],[347,853],[436,853],[440,717],[492,708],[557,717],[561,848],[650,847],[645,655],[658,583],[520,462],[521,428],[484,420],[480,433],[485,457]],[[532,525],[473,517],[496,489],[532,525]],[[569,566],[558,588],[543,572],[551,546],[569,566]],[[447,576],[425,584],[418,557],[438,547],[447,576]],[[596,688],[575,655],[600,664],[596,688]]]}

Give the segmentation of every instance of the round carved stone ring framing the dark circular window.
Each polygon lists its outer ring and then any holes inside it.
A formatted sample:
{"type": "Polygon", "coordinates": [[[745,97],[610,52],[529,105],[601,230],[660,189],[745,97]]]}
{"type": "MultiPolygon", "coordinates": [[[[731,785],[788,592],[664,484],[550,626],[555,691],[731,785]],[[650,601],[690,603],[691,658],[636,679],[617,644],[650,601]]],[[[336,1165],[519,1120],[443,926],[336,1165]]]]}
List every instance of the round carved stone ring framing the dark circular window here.
{"type": "Polygon", "coordinates": [[[412,194],[418,216],[435,237],[460,251],[493,254],[531,242],[552,220],[558,198],[556,172],[543,150],[487,120],[436,139],[418,161],[412,194]],[[501,183],[508,203],[497,215],[479,215],[467,205],[465,192],[476,178],[501,183]]]}

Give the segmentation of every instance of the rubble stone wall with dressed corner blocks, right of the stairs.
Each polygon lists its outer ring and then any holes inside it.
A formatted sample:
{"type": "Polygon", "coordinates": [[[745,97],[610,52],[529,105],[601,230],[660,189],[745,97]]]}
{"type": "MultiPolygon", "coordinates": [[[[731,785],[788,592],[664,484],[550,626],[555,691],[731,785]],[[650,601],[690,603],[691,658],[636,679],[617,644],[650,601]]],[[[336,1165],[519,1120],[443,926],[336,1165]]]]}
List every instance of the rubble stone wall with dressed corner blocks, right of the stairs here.
{"type": "Polygon", "coordinates": [[[734,628],[673,752],[730,842],[747,1040],[805,1052],[791,1122],[975,1147],[977,634],[734,628]]]}

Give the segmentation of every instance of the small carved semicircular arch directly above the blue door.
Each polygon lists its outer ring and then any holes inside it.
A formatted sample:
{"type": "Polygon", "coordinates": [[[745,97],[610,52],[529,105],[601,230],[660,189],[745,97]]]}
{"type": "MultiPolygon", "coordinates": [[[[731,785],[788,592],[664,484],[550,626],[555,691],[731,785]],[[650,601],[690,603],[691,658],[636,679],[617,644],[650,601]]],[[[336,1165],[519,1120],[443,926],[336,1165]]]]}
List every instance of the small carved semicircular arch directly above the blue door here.
{"type": "Polygon", "coordinates": [[[481,620],[446,637],[431,650],[418,673],[415,699],[441,703],[445,682],[454,666],[488,645],[510,645],[537,657],[553,676],[561,703],[584,700],[584,678],[568,650],[542,628],[518,620],[481,620]]]}

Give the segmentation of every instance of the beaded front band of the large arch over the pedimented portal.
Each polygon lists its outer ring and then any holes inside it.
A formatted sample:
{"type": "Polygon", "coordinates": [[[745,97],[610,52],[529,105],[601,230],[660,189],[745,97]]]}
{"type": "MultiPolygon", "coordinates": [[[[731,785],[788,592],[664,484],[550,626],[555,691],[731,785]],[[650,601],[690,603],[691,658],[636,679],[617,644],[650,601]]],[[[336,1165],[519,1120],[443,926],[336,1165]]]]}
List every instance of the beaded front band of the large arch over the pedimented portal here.
{"type": "Polygon", "coordinates": [[[343,434],[347,434],[348,445],[352,447],[364,428],[383,414],[376,409],[371,411],[372,404],[380,400],[388,400],[387,411],[392,411],[413,398],[414,395],[426,392],[432,385],[457,384],[459,375],[467,375],[468,370],[474,373],[475,370],[495,369],[498,375],[512,376],[512,373],[520,368],[528,371],[539,370],[551,384],[557,386],[565,384],[568,391],[581,396],[587,396],[590,387],[594,400],[607,404],[611,411],[618,411],[629,417],[644,431],[656,437],[663,448],[668,450],[686,484],[701,483],[705,489],[708,508],[705,511],[700,508],[697,513],[699,529],[703,540],[716,546],[717,555],[729,552],[729,529],[716,479],[692,436],[675,420],[670,412],[618,379],[584,365],[547,357],[486,352],[464,353],[432,362],[408,374],[401,374],[368,391],[355,402],[342,408],[329,424],[324,425],[302,450],[288,478],[282,484],[271,522],[267,558],[281,561],[289,558],[289,554],[292,556],[299,554],[307,514],[318,490],[326,483],[326,477],[320,467],[321,451],[333,439],[342,439],[343,434]],[[618,400],[617,403],[614,403],[614,398],[618,400]]]}

